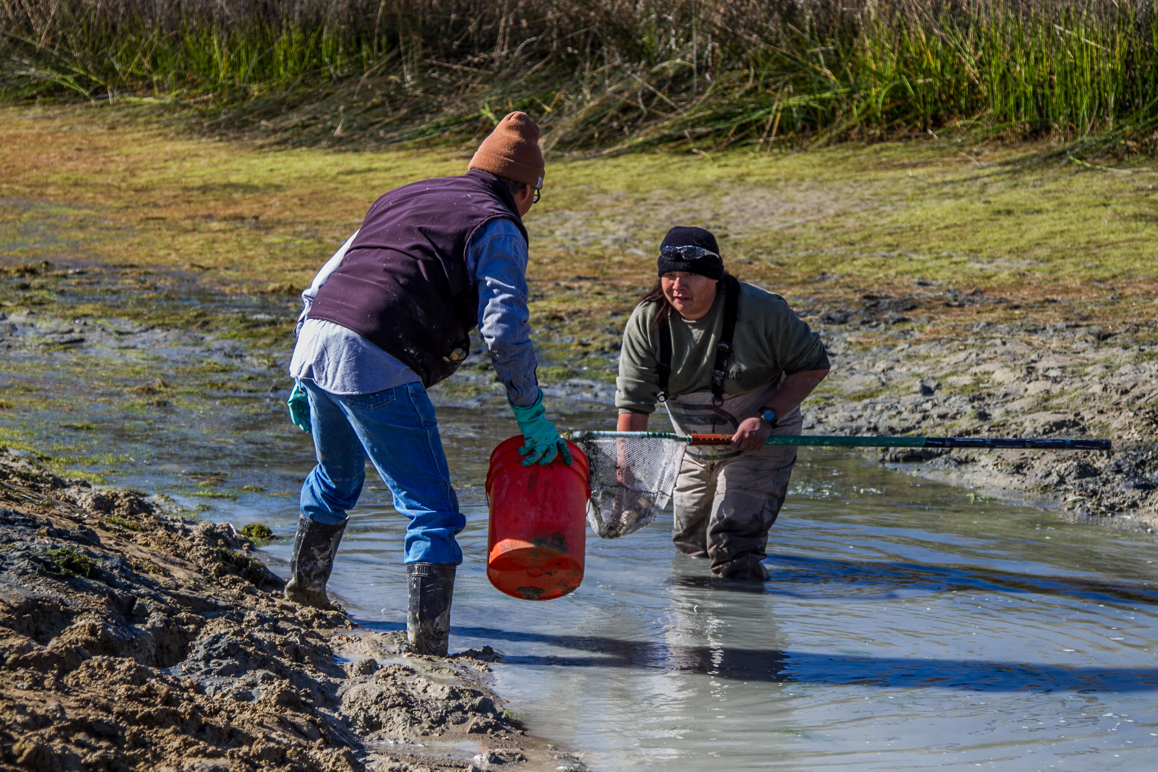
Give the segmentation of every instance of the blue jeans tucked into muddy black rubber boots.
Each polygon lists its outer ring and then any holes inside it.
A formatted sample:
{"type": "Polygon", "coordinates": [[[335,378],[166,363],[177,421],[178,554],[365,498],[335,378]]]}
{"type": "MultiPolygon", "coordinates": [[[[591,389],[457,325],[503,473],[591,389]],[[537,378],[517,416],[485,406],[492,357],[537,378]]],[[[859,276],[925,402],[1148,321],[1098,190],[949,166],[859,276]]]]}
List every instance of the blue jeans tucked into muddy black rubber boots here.
{"type": "Polygon", "coordinates": [[[346,521],[366,479],[366,459],[394,494],[394,508],[410,519],[405,563],[462,563],[454,535],[467,519],[439,439],[434,406],[420,383],[375,394],[336,395],[302,381],[317,466],[301,486],[301,514],[325,525],[346,521]]]}

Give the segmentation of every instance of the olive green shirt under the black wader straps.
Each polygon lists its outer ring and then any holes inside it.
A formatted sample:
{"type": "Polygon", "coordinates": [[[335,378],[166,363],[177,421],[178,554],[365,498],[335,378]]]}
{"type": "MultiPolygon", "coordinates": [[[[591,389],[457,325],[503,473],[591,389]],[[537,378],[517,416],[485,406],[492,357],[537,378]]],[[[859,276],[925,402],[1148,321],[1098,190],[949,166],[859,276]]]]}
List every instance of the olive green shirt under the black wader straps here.
{"type": "MultiPolygon", "coordinates": [[[[652,413],[659,394],[659,330],[651,322],[657,303],[640,303],[628,319],[615,380],[615,406],[621,413],[652,413]]],[[[724,293],[712,309],[688,322],[676,313],[672,325],[672,375],[668,396],[710,391],[716,345],[724,328],[724,293]]],[[[772,383],[782,373],[811,369],[824,355],[820,336],[775,293],[740,282],[740,302],[724,377],[724,392],[741,395],[772,383]]]]}

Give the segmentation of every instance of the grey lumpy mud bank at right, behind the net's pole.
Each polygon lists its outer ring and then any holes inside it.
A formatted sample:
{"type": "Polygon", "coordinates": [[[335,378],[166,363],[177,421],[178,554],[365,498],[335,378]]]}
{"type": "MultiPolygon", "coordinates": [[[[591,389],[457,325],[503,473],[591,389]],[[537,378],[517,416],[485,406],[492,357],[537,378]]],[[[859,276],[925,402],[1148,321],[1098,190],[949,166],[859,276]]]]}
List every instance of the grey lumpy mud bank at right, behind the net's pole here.
{"type": "Polygon", "coordinates": [[[1076,323],[959,324],[937,338],[911,326],[887,331],[888,317],[875,319],[878,329],[831,323],[849,316],[821,317],[833,374],[806,410],[805,433],[1109,438],[1109,454],[889,449],[873,457],[982,495],[1158,528],[1158,347],[1129,329],[1076,323]]]}

